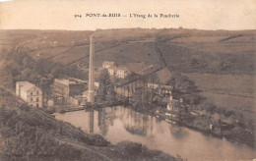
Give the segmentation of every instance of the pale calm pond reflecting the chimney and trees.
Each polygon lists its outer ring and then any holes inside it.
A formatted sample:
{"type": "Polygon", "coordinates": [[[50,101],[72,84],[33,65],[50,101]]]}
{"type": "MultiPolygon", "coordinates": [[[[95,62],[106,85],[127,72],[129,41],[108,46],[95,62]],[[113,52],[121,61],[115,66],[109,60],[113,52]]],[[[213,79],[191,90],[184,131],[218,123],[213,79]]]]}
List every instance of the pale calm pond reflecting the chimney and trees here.
{"type": "Polygon", "coordinates": [[[156,117],[123,107],[56,114],[56,119],[81,127],[86,133],[102,134],[112,143],[122,140],[141,142],[149,148],[159,149],[173,156],[179,154],[189,160],[256,158],[256,151],[246,145],[172,126],[156,117]]]}

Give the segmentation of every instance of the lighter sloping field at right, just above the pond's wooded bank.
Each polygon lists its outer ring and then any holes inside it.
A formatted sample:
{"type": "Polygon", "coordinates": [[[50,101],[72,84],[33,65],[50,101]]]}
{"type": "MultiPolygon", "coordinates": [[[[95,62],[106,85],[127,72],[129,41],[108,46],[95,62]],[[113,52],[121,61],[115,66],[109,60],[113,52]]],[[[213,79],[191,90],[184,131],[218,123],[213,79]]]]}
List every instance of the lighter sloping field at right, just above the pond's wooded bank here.
{"type": "Polygon", "coordinates": [[[255,76],[183,73],[203,91],[200,94],[218,107],[239,111],[246,116],[256,108],[255,76]]]}

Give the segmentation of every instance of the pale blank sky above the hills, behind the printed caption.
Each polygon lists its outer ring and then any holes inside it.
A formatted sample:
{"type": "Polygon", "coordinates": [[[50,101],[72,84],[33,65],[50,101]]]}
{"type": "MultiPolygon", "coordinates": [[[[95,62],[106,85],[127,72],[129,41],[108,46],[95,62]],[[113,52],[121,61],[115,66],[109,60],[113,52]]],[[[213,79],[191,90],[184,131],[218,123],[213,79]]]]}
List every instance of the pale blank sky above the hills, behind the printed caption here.
{"type": "Polygon", "coordinates": [[[256,0],[0,0],[0,29],[129,27],[256,29],[256,0]],[[109,13],[121,17],[86,17],[86,14],[109,13]],[[149,14],[153,17],[149,18],[149,14]],[[160,14],[179,18],[160,18],[160,14]]]}

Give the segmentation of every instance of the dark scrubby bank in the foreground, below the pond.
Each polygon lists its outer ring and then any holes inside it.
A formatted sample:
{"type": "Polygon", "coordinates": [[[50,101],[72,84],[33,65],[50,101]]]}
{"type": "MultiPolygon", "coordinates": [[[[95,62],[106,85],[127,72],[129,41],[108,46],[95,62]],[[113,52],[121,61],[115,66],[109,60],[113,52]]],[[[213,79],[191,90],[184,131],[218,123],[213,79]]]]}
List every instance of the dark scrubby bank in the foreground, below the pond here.
{"type": "Polygon", "coordinates": [[[176,160],[139,143],[111,145],[18,101],[0,88],[1,157],[6,160],[176,160]],[[124,157],[125,156],[125,157],[124,157]]]}

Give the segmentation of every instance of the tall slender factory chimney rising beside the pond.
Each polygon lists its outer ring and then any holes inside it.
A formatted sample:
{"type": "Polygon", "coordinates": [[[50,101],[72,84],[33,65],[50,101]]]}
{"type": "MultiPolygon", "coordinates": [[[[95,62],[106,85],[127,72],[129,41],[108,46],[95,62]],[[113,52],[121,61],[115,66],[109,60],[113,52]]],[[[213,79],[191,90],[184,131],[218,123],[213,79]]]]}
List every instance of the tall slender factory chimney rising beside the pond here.
{"type": "Polygon", "coordinates": [[[90,65],[89,65],[89,91],[88,91],[88,102],[91,104],[95,103],[95,36],[90,37],[90,65]]]}

